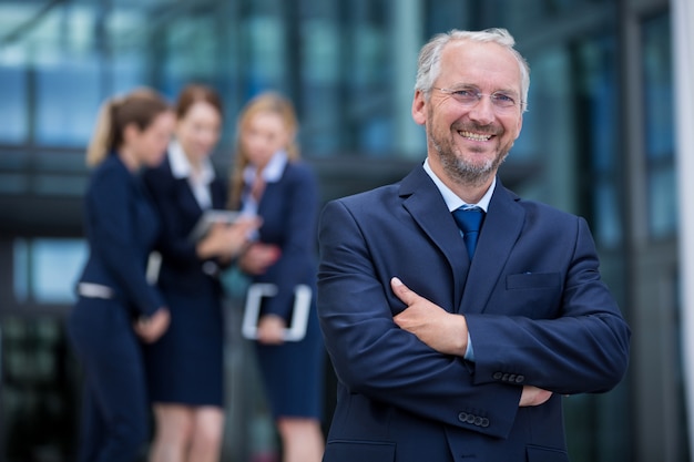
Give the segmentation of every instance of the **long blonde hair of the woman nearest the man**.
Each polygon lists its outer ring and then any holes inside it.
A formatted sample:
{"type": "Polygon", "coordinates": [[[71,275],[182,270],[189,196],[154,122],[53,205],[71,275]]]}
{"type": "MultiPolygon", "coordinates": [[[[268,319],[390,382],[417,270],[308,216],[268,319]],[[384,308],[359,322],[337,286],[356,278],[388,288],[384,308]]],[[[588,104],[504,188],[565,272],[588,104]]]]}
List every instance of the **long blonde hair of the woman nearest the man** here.
{"type": "Polygon", "coordinates": [[[251,120],[261,113],[278,114],[287,132],[289,133],[289,142],[285,146],[287,158],[289,162],[298,161],[300,157],[299,146],[297,142],[298,119],[294,111],[292,102],[279,93],[265,92],[252,99],[242,109],[236,124],[236,140],[234,146],[234,168],[229,178],[229,199],[228,207],[236,209],[241,206],[241,195],[244,187],[244,170],[248,165],[248,156],[241,142],[241,134],[246,129],[251,120]]]}

